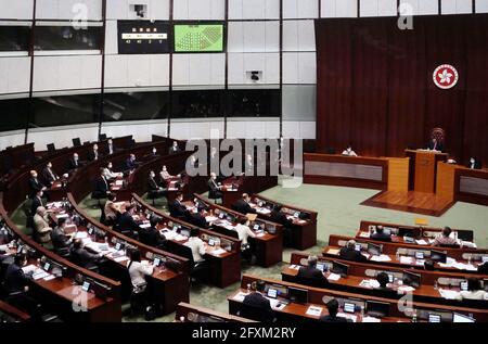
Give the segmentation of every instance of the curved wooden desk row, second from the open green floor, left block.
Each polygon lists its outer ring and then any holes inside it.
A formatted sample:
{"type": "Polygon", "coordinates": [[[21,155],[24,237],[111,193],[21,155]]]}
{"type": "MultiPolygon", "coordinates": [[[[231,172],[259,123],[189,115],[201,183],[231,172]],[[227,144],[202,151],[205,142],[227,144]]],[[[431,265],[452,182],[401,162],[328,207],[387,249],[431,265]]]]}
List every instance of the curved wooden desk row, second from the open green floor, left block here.
{"type": "MultiPolygon", "coordinates": [[[[218,213],[223,212],[226,214],[231,214],[232,216],[239,219],[245,218],[244,215],[237,212],[233,212],[227,207],[213,204],[201,195],[195,194],[194,196],[198,200],[198,202],[205,204],[210,209],[210,212],[214,214],[215,217],[217,217],[218,213]]],[[[191,207],[194,207],[193,202],[190,202],[188,204],[191,207]]],[[[211,216],[211,214],[208,215],[211,216]]],[[[274,231],[273,234],[271,234],[269,231],[265,231],[260,237],[248,239],[248,242],[254,249],[253,251],[256,255],[256,264],[262,267],[270,267],[277,263],[280,263],[283,258],[283,231],[281,225],[273,224],[270,221],[255,220],[251,221],[252,229],[254,228],[254,225],[259,225],[260,228],[262,228],[264,226],[268,230],[274,231]]],[[[231,226],[235,227],[236,222],[232,222],[231,226]]],[[[219,219],[211,222],[211,228],[216,232],[229,237],[234,237],[239,240],[237,232],[226,228],[219,219]]]]}

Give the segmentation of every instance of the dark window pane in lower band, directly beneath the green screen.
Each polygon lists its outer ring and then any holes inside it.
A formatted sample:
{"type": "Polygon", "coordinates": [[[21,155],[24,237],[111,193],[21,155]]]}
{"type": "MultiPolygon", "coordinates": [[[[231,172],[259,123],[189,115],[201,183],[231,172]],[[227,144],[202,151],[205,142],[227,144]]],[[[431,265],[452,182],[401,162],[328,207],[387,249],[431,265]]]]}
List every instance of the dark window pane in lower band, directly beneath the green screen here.
{"type": "Polygon", "coordinates": [[[201,118],[223,116],[222,90],[174,91],[172,118],[201,118]]]}

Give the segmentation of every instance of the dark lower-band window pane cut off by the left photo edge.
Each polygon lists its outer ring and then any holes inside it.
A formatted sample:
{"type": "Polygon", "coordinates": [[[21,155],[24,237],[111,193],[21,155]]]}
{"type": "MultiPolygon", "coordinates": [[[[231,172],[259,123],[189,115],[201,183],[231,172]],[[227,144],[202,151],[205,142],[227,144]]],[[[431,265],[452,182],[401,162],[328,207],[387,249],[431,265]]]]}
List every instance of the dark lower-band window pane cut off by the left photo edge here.
{"type": "Polygon", "coordinates": [[[0,131],[25,129],[28,110],[28,99],[0,100],[0,131]]]}

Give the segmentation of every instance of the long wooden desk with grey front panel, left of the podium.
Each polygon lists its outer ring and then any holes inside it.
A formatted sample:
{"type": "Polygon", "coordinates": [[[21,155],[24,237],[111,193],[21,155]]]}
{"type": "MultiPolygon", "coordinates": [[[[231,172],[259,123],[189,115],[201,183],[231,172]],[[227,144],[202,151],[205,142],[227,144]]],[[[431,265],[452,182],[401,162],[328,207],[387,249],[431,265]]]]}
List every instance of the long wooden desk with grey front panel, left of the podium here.
{"type": "Polygon", "coordinates": [[[387,189],[387,158],[305,153],[304,164],[305,183],[387,189]]]}

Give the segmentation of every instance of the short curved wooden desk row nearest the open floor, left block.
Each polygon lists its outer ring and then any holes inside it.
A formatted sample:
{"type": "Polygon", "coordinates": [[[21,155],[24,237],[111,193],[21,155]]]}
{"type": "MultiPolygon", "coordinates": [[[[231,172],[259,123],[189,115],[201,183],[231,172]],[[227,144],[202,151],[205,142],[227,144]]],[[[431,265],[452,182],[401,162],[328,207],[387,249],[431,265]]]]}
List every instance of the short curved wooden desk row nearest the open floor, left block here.
{"type": "Polygon", "coordinates": [[[292,228],[292,247],[298,250],[307,250],[317,244],[317,217],[318,213],[313,211],[303,209],[296,206],[281,204],[261,195],[252,195],[252,206],[256,208],[258,217],[262,219],[270,219],[270,211],[274,205],[282,205],[282,213],[288,216],[293,216],[295,212],[305,213],[309,216],[307,220],[301,220],[293,217],[292,228]],[[260,211],[258,206],[260,202],[265,203],[267,211],[260,211]]]}

